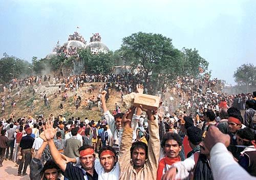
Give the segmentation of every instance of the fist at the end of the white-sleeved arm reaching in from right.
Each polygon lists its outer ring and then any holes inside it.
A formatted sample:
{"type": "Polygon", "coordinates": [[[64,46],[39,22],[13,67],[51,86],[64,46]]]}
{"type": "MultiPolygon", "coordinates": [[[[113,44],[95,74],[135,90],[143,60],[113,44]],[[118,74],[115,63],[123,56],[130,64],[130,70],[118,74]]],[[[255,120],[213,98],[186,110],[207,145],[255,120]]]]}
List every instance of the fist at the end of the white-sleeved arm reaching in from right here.
{"type": "Polygon", "coordinates": [[[228,147],[230,144],[230,137],[228,134],[223,134],[217,127],[210,126],[206,132],[204,145],[210,151],[216,143],[223,143],[228,147]]]}

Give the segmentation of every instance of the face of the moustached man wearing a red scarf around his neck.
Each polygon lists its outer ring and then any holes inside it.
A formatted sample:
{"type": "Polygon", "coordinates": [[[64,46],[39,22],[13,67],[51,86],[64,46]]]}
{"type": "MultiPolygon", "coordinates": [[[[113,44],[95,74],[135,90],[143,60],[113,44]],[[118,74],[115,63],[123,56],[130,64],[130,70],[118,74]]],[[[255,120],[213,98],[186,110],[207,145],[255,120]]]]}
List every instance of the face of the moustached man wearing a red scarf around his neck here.
{"type": "Polygon", "coordinates": [[[168,158],[176,158],[181,151],[181,146],[175,140],[167,140],[164,145],[164,152],[168,158]]]}

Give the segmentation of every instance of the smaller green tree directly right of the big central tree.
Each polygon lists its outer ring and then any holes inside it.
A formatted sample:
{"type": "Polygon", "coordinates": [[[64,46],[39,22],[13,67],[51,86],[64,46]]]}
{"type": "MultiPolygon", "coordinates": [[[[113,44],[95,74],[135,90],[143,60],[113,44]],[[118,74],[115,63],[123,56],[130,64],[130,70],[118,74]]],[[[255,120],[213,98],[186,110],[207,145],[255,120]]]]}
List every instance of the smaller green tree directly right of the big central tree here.
{"type": "Polygon", "coordinates": [[[200,76],[200,73],[208,70],[209,63],[199,55],[198,50],[183,48],[182,53],[184,63],[182,68],[182,75],[191,75],[194,77],[198,77],[200,76]]]}

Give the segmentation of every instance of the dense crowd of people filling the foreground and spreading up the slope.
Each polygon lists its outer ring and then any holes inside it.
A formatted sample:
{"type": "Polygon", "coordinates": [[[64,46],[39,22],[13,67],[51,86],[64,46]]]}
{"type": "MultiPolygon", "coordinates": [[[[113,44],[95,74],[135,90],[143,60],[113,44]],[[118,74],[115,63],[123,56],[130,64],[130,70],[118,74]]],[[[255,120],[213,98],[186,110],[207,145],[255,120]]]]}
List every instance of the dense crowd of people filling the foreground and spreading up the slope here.
{"type": "MultiPolygon", "coordinates": [[[[129,81],[129,76],[123,78],[129,81]]],[[[28,81],[33,83],[35,79],[28,81]]],[[[44,80],[51,78],[46,76],[44,80]]],[[[242,106],[235,107],[234,99],[230,98],[230,103],[222,94],[212,95],[213,88],[203,95],[200,88],[195,88],[200,83],[191,80],[180,79],[175,91],[170,91],[183,93],[184,97],[199,93],[199,101],[191,100],[199,102],[195,111],[187,107],[166,109],[163,98],[158,109],[139,105],[121,113],[117,104],[110,111],[106,101],[111,82],[119,84],[118,91],[130,92],[121,86],[122,76],[79,75],[60,79],[64,91],[74,92],[84,82],[105,82],[97,97],[102,118],[66,119],[51,114],[49,118],[2,119],[0,166],[8,159],[15,162],[19,176],[27,175],[30,165],[31,179],[255,179],[256,92],[246,95],[243,118],[239,108],[242,106]],[[207,106],[205,101],[209,102],[207,106]],[[211,101],[215,101],[215,108],[211,101]]],[[[139,79],[131,81],[136,83],[139,79]]],[[[61,85],[59,88],[61,93],[61,85]]],[[[131,92],[146,93],[143,85],[131,88],[131,92]]],[[[88,89],[94,91],[93,86],[88,89]]],[[[79,100],[77,94],[74,100],[79,100]]]]}

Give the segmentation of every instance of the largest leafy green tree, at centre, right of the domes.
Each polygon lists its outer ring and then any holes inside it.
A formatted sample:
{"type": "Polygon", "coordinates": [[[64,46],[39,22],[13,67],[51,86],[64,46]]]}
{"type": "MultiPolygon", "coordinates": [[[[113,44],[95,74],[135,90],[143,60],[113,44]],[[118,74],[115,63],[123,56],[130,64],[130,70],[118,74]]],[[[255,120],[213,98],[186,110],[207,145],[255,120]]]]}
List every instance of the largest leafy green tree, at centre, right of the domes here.
{"type": "MultiPolygon", "coordinates": [[[[181,73],[181,52],[174,48],[172,39],[161,34],[134,33],[123,38],[121,50],[126,59],[133,59],[134,67],[142,66],[147,82],[159,82],[159,77],[172,80],[181,73]]],[[[145,85],[150,88],[149,83],[145,85]]],[[[153,91],[156,87],[154,84],[153,91]]]]}

